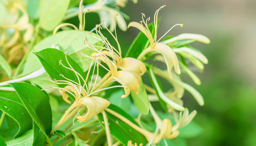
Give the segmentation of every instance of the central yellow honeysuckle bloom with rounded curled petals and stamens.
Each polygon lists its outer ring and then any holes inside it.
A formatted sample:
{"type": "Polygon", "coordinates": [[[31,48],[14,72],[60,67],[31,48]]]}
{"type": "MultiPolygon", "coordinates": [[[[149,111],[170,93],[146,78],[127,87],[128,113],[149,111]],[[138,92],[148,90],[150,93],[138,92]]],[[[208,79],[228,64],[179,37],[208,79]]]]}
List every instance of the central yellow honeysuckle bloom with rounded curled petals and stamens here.
{"type": "MultiPolygon", "coordinates": [[[[103,23],[105,26],[105,24],[103,23]]],[[[122,58],[121,56],[121,47],[119,45],[119,42],[117,41],[117,38],[114,37],[114,35],[111,33],[111,31],[106,28],[109,33],[112,35],[112,37],[115,39],[118,49],[114,48],[108,41],[108,39],[101,33],[101,27],[98,27],[99,29],[96,30],[96,33],[98,35],[98,38],[100,41],[103,42],[105,47],[102,47],[100,51],[96,49],[96,47],[91,45],[87,39],[86,44],[89,48],[97,51],[93,54],[91,54],[90,57],[97,58],[104,62],[108,68],[109,72],[111,73],[111,76],[109,77],[109,81],[116,80],[119,82],[122,86],[124,86],[125,95],[122,95],[121,98],[125,98],[129,95],[130,91],[139,93],[139,82],[141,81],[141,76],[146,72],[146,66],[143,64],[143,62],[139,61],[135,58],[122,58]],[[118,69],[121,69],[118,71],[118,69]]],[[[79,53],[79,55],[84,55],[88,57],[85,54],[79,53]]],[[[105,85],[105,84],[103,84],[105,85]]]]}

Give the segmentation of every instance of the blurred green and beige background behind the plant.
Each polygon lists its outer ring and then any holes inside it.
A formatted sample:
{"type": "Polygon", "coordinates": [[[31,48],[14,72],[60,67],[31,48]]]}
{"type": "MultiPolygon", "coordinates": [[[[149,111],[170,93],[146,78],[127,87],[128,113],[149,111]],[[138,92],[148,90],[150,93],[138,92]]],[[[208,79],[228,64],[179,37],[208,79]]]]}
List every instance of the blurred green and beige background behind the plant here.
{"type": "MultiPolygon", "coordinates": [[[[140,13],[153,18],[154,12],[165,4],[159,12],[158,37],[174,24],[183,23],[184,27],[175,27],[169,35],[195,33],[211,40],[210,45],[192,44],[209,60],[204,72],[196,73],[202,84],[197,86],[186,74],[182,76],[205,100],[200,107],[189,93],[183,98],[184,106],[197,110],[194,121],[203,128],[202,134],[187,139],[187,145],[256,145],[256,1],[139,0],[137,4],[129,2],[121,11],[130,16],[127,23],[139,22],[140,13]]],[[[95,17],[98,19],[94,14],[87,16],[95,17]]],[[[87,25],[88,30],[91,28],[93,25],[87,25]]],[[[117,29],[124,50],[138,32],[135,28],[127,32],[117,29]]]]}

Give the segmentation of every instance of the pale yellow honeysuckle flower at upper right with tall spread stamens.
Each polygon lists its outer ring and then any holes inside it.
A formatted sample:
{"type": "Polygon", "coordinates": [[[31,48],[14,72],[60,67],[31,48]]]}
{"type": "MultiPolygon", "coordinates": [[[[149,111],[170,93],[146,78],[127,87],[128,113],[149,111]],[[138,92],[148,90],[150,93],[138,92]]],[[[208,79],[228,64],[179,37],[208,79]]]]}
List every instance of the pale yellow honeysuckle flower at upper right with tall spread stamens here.
{"type": "Polygon", "coordinates": [[[166,65],[167,65],[167,73],[168,73],[168,76],[170,78],[172,78],[172,74],[171,74],[171,70],[172,68],[174,67],[175,69],[175,72],[177,74],[180,74],[180,66],[178,64],[178,58],[177,58],[177,55],[174,53],[174,51],[169,47],[167,46],[166,44],[164,43],[160,43],[159,41],[174,27],[174,26],[177,26],[177,25],[180,25],[181,27],[183,26],[183,24],[176,24],[174,25],[172,28],[170,28],[160,39],[157,40],[157,25],[158,25],[158,22],[157,22],[157,18],[158,18],[158,12],[160,9],[162,9],[163,7],[165,7],[165,5],[163,5],[162,7],[160,7],[156,12],[155,12],[155,15],[154,15],[154,30],[155,30],[155,34],[154,34],[154,37],[152,36],[149,28],[148,28],[148,25],[147,25],[147,22],[150,20],[150,17],[146,19],[146,21],[144,20],[145,18],[145,15],[142,14],[142,21],[140,23],[138,22],[131,22],[129,23],[128,25],[128,28],[129,27],[136,27],[138,28],[141,32],[143,32],[146,37],[148,38],[149,42],[150,42],[150,45],[148,46],[147,49],[145,49],[137,59],[142,59],[142,57],[147,54],[148,52],[150,51],[157,51],[158,53],[162,54],[163,57],[165,58],[165,62],[166,62],[166,65]]]}

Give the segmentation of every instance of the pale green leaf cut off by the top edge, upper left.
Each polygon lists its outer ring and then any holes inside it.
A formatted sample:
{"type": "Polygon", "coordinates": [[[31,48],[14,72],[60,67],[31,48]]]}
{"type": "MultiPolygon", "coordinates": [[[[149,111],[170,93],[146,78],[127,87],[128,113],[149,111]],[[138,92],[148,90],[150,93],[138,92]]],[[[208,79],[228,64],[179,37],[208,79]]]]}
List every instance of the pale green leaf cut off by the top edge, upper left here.
{"type": "Polygon", "coordinates": [[[41,0],[39,4],[39,26],[52,31],[63,19],[70,0],[41,0]]]}

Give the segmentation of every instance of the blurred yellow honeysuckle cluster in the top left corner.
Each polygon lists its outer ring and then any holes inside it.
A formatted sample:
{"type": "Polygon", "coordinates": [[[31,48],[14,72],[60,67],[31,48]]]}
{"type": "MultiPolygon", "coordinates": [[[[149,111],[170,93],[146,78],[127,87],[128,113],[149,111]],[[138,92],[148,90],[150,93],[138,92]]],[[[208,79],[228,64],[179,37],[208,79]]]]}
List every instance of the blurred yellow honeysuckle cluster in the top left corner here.
{"type": "Polygon", "coordinates": [[[0,22],[0,46],[2,53],[7,54],[7,62],[17,63],[27,51],[25,43],[32,38],[34,27],[29,23],[29,15],[21,1],[8,0],[2,4],[5,14],[0,22]],[[25,33],[22,35],[20,31],[25,33]]]}

